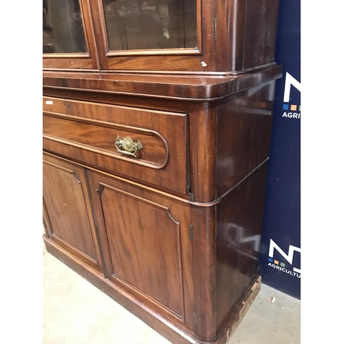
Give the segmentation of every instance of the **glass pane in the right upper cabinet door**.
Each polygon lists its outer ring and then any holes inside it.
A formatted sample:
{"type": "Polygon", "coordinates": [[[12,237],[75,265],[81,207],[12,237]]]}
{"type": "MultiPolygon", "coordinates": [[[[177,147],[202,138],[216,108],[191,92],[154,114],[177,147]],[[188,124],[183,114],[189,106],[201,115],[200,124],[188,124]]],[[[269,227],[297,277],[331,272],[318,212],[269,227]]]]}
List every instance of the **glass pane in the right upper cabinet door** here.
{"type": "Polygon", "coordinates": [[[103,0],[110,50],[197,47],[196,0],[103,0]]]}

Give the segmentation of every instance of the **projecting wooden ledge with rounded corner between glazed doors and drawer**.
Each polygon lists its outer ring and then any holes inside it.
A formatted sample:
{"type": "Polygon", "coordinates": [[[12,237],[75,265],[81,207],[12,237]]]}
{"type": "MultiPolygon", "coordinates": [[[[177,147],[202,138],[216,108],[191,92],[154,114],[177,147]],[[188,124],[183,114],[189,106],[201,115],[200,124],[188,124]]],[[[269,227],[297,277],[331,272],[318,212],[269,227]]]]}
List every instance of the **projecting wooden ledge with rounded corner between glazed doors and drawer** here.
{"type": "Polygon", "coordinates": [[[43,72],[43,87],[69,91],[213,101],[280,78],[281,65],[238,76],[181,76],[158,74],[43,72]]]}

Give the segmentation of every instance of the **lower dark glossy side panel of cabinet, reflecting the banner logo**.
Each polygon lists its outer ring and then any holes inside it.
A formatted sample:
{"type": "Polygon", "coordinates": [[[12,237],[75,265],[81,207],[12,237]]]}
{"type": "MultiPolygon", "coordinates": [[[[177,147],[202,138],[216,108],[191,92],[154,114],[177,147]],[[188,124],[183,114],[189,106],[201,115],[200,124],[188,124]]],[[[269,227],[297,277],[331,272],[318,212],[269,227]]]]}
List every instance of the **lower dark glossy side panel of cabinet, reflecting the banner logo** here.
{"type": "Polygon", "coordinates": [[[258,274],[268,162],[217,205],[217,332],[258,274]]]}

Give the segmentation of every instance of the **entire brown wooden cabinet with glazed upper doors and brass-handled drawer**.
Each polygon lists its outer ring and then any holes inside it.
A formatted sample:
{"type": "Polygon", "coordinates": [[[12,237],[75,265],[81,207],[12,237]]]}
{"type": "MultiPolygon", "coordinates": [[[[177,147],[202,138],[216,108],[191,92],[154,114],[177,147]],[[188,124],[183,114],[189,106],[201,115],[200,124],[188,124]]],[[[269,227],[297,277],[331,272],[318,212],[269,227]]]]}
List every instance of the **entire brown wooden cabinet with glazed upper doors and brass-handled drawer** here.
{"type": "Polygon", "coordinates": [[[45,245],[173,343],[226,343],[259,277],[277,13],[43,1],[45,245]]]}

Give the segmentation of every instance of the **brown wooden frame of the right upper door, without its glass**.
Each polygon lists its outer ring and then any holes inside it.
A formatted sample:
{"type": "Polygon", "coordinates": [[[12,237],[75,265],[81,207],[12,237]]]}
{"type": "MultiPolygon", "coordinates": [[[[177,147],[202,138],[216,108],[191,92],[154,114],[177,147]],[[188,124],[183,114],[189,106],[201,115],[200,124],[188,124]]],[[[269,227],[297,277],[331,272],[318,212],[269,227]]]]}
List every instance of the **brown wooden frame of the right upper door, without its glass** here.
{"type": "Polygon", "coordinates": [[[93,1],[94,32],[100,56],[100,69],[147,70],[147,71],[206,71],[215,61],[212,50],[214,37],[215,7],[212,0],[197,0],[197,48],[196,49],[160,49],[110,51],[107,44],[107,31],[101,0],[93,1]],[[202,12],[201,12],[202,11],[202,12]],[[201,21],[201,19],[203,19],[201,21]],[[204,20],[205,19],[205,20],[204,20]],[[207,34],[202,34],[206,31],[207,34]],[[204,50],[206,53],[204,53],[204,50]],[[202,67],[207,58],[209,67],[202,67]]]}

